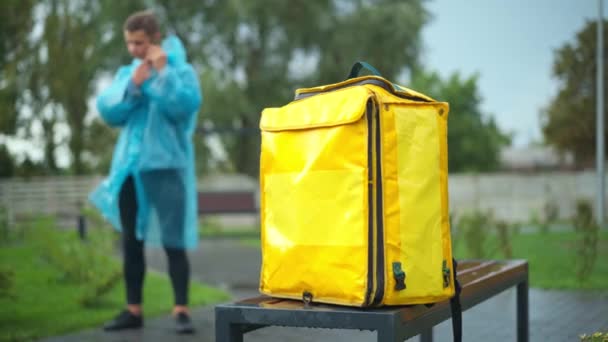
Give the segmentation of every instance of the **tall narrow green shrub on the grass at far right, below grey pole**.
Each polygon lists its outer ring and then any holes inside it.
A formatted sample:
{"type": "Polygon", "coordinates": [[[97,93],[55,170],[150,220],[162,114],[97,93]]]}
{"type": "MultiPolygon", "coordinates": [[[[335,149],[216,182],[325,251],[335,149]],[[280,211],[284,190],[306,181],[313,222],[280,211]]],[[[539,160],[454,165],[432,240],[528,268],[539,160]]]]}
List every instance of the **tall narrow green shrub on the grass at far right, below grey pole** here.
{"type": "Polygon", "coordinates": [[[576,214],[572,218],[574,228],[578,234],[577,241],[577,276],[583,282],[593,271],[597,259],[599,226],[593,218],[591,202],[580,199],[576,202],[576,214]]]}

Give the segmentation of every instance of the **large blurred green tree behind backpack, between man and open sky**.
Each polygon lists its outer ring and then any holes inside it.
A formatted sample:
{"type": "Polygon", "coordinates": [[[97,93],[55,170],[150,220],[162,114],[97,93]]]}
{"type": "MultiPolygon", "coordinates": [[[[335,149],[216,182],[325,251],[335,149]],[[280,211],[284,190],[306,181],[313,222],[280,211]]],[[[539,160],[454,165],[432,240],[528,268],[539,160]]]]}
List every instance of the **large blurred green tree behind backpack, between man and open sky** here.
{"type": "Polygon", "coordinates": [[[357,60],[370,62],[387,78],[411,71],[429,19],[421,0],[157,4],[168,28],[206,70],[201,119],[247,132],[221,139],[235,170],[252,176],[259,169],[263,108],[286,104],[297,87],[344,80],[357,60]]]}

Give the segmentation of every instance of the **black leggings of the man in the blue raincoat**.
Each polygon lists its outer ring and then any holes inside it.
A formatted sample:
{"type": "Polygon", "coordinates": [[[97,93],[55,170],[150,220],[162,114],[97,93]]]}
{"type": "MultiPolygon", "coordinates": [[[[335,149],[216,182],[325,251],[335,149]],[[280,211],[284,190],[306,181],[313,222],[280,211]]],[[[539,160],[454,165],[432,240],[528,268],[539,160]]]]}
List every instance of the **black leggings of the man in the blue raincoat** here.
{"type": "MultiPolygon", "coordinates": [[[[135,236],[137,198],[135,197],[135,183],[131,176],[126,179],[120,189],[118,205],[123,229],[123,273],[127,290],[127,303],[141,304],[146,261],[144,243],[135,236]]],[[[188,305],[190,265],[186,252],[181,248],[165,247],[164,249],[169,259],[169,277],[173,286],[175,305],[188,305]]]]}

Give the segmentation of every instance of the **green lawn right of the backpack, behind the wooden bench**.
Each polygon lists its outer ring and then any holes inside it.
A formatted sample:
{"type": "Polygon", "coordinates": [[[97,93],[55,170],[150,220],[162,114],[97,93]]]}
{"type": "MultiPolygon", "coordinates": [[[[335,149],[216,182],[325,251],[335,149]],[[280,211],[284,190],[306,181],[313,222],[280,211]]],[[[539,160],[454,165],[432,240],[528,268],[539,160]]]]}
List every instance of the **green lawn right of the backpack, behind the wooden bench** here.
{"type": "MultiPolygon", "coordinates": [[[[514,259],[526,259],[529,263],[530,285],[546,289],[608,290],[608,231],[600,232],[597,258],[593,272],[580,282],[576,276],[579,257],[576,249],[579,237],[574,232],[550,232],[518,234],[512,237],[514,259]]],[[[488,238],[488,258],[504,259],[498,251],[494,236],[488,238]]],[[[470,255],[463,241],[454,239],[454,255],[466,259],[470,255]]]]}

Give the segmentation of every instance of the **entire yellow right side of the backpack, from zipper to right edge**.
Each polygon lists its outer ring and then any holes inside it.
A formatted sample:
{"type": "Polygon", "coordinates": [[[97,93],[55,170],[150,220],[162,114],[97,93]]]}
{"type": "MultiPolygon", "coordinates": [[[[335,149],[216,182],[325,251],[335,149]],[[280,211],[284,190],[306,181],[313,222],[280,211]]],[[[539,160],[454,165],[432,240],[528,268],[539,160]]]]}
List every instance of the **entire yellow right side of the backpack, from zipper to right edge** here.
{"type": "Polygon", "coordinates": [[[446,103],[412,103],[378,90],[385,224],[383,304],[450,298],[453,282],[447,198],[446,103]],[[395,263],[405,273],[398,286],[395,263]],[[451,279],[451,278],[450,278],[451,279]]]}

